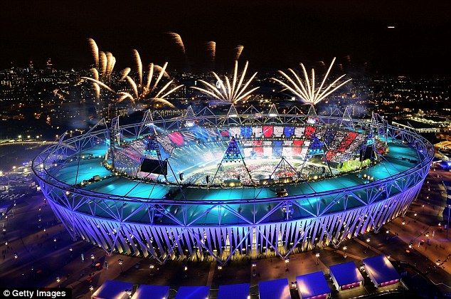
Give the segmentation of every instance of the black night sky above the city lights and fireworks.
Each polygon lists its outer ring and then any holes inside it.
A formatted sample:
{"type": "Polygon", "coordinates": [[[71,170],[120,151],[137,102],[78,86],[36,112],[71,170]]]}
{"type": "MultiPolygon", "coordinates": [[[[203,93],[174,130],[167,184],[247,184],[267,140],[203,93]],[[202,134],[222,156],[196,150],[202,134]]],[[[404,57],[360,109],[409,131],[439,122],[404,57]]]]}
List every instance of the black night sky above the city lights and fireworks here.
{"type": "Polygon", "coordinates": [[[56,68],[88,68],[87,37],[111,51],[119,68],[132,65],[132,48],[146,63],[177,68],[184,58],[164,34],[174,31],[192,68],[203,63],[203,43],[216,41],[217,65],[231,64],[242,44],[241,59],[255,70],[349,56],[371,73],[450,73],[450,1],[65,2],[1,2],[0,68],[42,66],[47,58],[56,68]]]}

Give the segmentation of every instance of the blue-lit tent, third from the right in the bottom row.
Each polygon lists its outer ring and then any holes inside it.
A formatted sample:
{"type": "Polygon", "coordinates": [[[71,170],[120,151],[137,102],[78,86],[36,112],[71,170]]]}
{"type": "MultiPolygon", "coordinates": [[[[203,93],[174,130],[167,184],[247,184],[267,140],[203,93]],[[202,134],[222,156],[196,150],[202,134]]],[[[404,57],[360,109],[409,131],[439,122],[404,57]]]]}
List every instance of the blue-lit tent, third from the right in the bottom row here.
{"type": "Polygon", "coordinates": [[[331,293],[329,284],[322,271],[296,277],[297,290],[301,298],[310,298],[331,293]]]}

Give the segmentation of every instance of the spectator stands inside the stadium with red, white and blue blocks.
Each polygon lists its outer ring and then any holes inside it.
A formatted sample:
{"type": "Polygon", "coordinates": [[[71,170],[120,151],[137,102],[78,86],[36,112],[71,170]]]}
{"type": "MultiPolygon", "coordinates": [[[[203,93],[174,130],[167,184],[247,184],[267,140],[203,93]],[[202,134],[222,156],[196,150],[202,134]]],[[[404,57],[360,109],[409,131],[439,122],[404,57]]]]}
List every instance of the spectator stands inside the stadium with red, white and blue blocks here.
{"type": "MultiPolygon", "coordinates": [[[[218,129],[216,127],[189,127],[184,130],[158,133],[156,140],[161,145],[160,152],[162,159],[169,158],[169,163],[176,174],[185,172],[193,175],[185,178],[186,182],[199,183],[203,181],[205,175],[193,172],[197,167],[203,167],[212,162],[219,163],[230,141],[230,137],[236,137],[240,146],[241,154],[245,159],[256,159],[260,157],[295,157],[303,160],[307,150],[314,143],[314,140],[321,140],[325,145],[325,159],[329,162],[344,162],[354,159],[361,145],[366,142],[366,135],[360,132],[346,130],[342,127],[314,126],[304,127],[290,126],[242,126],[218,129]],[[196,167],[196,168],[194,168],[196,167]],[[196,174],[196,175],[194,175],[196,174]]],[[[381,152],[385,149],[379,147],[381,152]]],[[[145,140],[137,140],[126,145],[117,152],[117,161],[121,167],[139,168],[142,155],[145,153],[145,140]],[[143,153],[143,154],[140,154],[143,153]]],[[[321,151],[323,152],[323,151],[321,151]]],[[[258,164],[249,165],[250,172],[274,171],[275,165],[258,164]]],[[[233,179],[240,177],[242,180],[248,179],[247,172],[243,169],[233,169],[224,172],[218,179],[233,179]]],[[[245,169],[244,169],[245,170],[245,169]]],[[[309,166],[307,172],[319,171],[322,169],[312,169],[309,166]]],[[[293,177],[295,173],[279,173],[277,177],[293,177]]],[[[302,174],[306,177],[306,174],[302,174]]],[[[202,182],[204,184],[204,182],[202,182]]],[[[246,184],[243,181],[243,184],[246,184]]]]}

